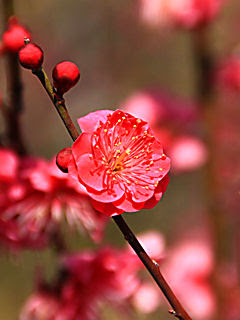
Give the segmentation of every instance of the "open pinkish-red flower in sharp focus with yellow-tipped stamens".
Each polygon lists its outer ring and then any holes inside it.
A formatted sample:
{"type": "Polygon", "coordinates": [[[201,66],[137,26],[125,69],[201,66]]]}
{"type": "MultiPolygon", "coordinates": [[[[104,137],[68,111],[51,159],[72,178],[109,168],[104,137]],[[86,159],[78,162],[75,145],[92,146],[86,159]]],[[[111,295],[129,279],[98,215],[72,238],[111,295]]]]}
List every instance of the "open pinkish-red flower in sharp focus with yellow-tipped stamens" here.
{"type": "Polygon", "coordinates": [[[147,122],[120,110],[78,119],[68,172],[108,215],[152,208],[168,185],[170,160],[147,122]]]}

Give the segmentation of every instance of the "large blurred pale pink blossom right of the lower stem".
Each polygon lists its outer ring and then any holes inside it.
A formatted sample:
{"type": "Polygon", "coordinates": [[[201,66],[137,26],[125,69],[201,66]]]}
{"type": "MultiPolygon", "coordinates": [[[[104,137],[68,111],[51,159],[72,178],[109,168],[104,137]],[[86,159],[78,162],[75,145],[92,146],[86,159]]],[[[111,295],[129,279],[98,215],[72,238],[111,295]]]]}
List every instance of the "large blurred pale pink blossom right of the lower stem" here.
{"type": "Polygon", "coordinates": [[[169,251],[164,274],[194,319],[209,319],[215,312],[215,295],[209,284],[213,253],[204,240],[188,239],[169,251]]]}

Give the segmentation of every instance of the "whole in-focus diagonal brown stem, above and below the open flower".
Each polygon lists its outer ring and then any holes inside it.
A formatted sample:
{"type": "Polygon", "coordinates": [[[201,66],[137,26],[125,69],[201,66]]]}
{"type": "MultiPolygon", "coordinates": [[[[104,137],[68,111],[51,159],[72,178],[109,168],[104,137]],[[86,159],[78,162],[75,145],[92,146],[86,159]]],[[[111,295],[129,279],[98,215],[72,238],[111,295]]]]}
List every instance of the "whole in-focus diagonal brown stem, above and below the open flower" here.
{"type": "MultiPolygon", "coordinates": [[[[45,71],[41,69],[41,70],[34,71],[33,73],[39,78],[43,87],[47,91],[49,97],[51,98],[54,106],[56,107],[72,139],[76,140],[77,137],[79,136],[79,133],[75,128],[68,114],[64,101],[56,100],[55,90],[51,82],[49,81],[45,71]]],[[[142,263],[145,265],[145,267],[147,268],[149,273],[152,275],[153,279],[156,281],[159,288],[162,290],[163,294],[167,298],[169,304],[173,308],[173,310],[170,310],[169,312],[180,320],[191,320],[191,317],[184,310],[183,306],[178,301],[177,297],[175,296],[175,294],[167,284],[166,280],[162,276],[161,271],[159,269],[159,265],[157,263],[154,263],[152,259],[147,255],[147,253],[144,251],[143,247],[138,242],[137,238],[135,237],[131,229],[128,227],[128,225],[124,221],[123,217],[120,215],[114,216],[113,220],[119,227],[122,234],[124,235],[124,238],[128,241],[130,246],[136,252],[136,254],[140,258],[142,263]]]]}

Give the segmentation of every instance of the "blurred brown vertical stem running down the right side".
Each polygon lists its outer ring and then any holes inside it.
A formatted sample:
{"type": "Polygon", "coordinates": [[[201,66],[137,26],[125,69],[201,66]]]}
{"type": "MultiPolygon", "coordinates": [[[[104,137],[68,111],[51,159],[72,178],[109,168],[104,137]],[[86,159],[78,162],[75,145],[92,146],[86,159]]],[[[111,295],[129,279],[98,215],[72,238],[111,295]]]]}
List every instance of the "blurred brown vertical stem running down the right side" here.
{"type": "Polygon", "coordinates": [[[215,127],[217,121],[217,105],[215,101],[213,71],[214,57],[209,43],[209,29],[207,27],[195,30],[193,33],[193,51],[195,55],[197,83],[197,98],[200,102],[205,129],[205,144],[208,148],[208,161],[204,168],[205,196],[207,200],[207,215],[211,226],[215,246],[215,270],[212,274],[213,285],[217,295],[217,319],[223,319],[222,311],[224,290],[220,287],[217,273],[229,257],[228,224],[226,215],[219,201],[219,180],[217,171],[218,145],[215,141],[215,127]]]}

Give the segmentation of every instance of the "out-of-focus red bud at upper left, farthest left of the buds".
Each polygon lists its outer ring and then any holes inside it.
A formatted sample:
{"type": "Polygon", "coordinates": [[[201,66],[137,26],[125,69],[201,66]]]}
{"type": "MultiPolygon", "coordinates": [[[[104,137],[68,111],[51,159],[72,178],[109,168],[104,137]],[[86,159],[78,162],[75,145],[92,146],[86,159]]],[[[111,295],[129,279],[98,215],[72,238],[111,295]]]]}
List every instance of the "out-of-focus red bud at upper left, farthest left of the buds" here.
{"type": "Polygon", "coordinates": [[[18,23],[16,18],[9,19],[8,29],[2,37],[4,51],[17,53],[25,45],[25,38],[30,39],[30,33],[18,23]]]}

